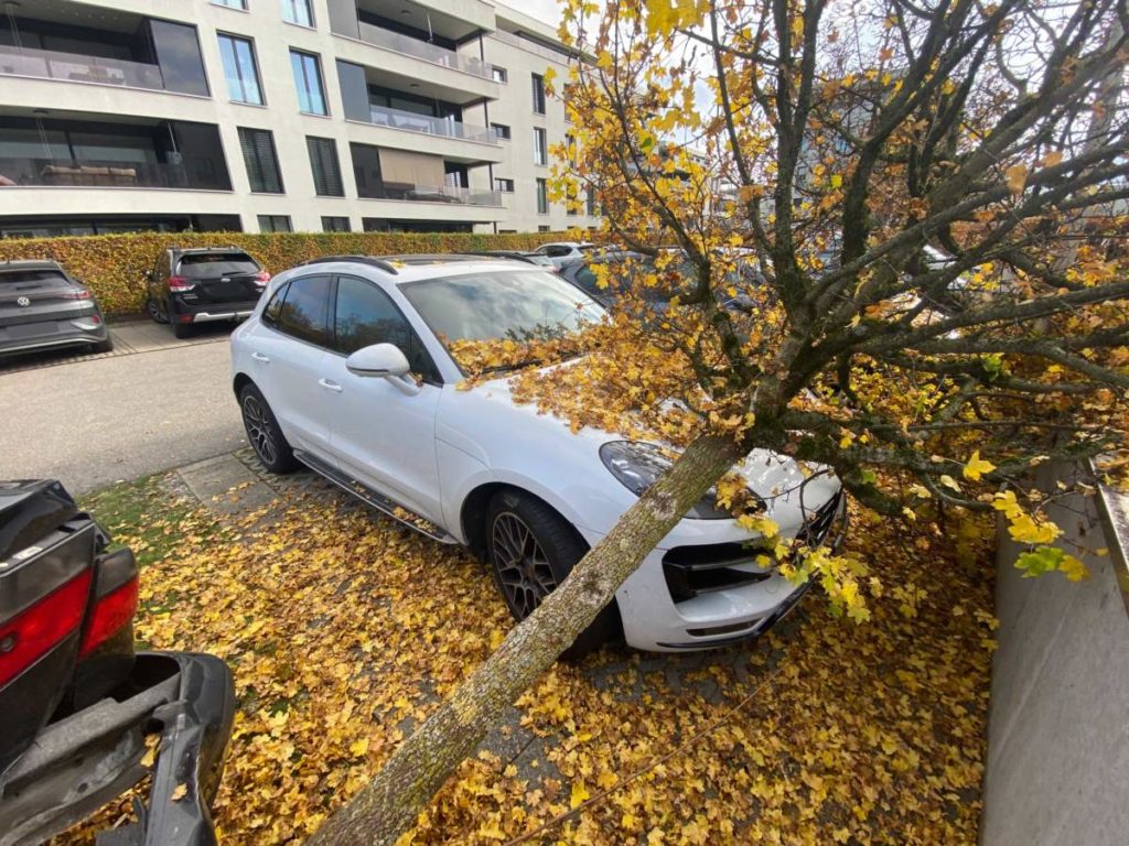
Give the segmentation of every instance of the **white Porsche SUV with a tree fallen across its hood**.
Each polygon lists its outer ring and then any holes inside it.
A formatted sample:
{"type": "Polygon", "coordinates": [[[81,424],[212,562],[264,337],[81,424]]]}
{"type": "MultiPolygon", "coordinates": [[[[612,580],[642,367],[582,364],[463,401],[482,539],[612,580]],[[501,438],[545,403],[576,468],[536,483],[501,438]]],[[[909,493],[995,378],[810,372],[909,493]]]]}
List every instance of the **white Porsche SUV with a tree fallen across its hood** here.
{"type": "MultiPolygon", "coordinates": [[[[247,438],[273,472],[300,461],[370,505],[463,544],[528,615],[657,478],[651,444],[574,434],[516,405],[505,374],[460,390],[453,340],[575,327],[602,309],[557,274],[479,256],[340,256],[278,274],[231,335],[247,438]]],[[[841,537],[830,474],[754,452],[737,468],[781,534],[841,537]]],[[[620,636],[681,651],[760,634],[803,596],[755,563],[756,536],[704,496],[627,580],[574,651],[620,636]]]]}

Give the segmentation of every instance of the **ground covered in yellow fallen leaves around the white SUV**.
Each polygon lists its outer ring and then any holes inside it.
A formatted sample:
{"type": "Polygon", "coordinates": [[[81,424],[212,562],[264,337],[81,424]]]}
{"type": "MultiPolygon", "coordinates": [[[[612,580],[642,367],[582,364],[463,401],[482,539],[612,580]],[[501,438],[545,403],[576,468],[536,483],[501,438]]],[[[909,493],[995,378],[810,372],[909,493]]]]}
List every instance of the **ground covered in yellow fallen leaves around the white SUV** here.
{"type": "MultiPolygon", "coordinates": [[[[292,493],[277,520],[220,530],[169,511],[163,484],[89,503],[151,561],[139,637],[235,671],[222,841],[300,841],[509,617],[469,554],[336,497],[292,493]]],[[[975,843],[992,619],[974,528],[911,537],[856,515],[850,543],[885,585],[866,625],[813,592],[758,644],[557,666],[410,841],[506,843],[576,808],[527,841],[975,843]]],[[[89,843],[125,808],[60,843],[89,843]]]]}

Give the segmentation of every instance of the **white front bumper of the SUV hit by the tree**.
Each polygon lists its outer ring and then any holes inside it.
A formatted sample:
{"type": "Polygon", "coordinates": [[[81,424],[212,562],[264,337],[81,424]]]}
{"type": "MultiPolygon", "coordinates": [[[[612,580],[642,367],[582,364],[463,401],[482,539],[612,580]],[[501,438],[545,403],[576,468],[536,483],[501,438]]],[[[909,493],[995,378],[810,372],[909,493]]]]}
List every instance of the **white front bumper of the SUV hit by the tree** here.
{"type": "MultiPolygon", "coordinates": [[[[838,549],[846,528],[847,499],[841,496],[822,544],[838,549]]],[[[628,645],[654,652],[725,646],[763,634],[796,607],[811,583],[797,587],[779,573],[760,570],[753,564],[755,549],[749,549],[746,562],[737,566],[756,572],[759,581],[701,590],[675,601],[668,554],[675,548],[688,548],[684,544],[692,548],[729,543],[732,537],[730,520],[684,521],[664,538],[663,547],[644,558],[615,594],[628,645]]],[[[599,538],[588,540],[594,544],[599,538]]]]}

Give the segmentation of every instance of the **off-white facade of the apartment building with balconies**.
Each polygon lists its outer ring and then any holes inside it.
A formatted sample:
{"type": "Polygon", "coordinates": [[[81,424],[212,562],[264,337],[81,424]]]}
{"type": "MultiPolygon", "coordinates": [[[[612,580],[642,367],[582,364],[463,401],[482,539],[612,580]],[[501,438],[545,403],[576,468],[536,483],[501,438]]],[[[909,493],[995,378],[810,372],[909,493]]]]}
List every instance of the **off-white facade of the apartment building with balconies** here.
{"type": "MultiPolygon", "coordinates": [[[[104,121],[207,124],[218,130],[231,187],[220,191],[42,184],[44,179],[40,174],[45,173],[45,158],[36,158],[24,167],[23,176],[10,174],[11,178],[6,180],[0,150],[0,235],[64,233],[47,232],[45,228],[50,228],[52,221],[67,220],[102,221],[105,228],[98,231],[113,231],[114,220],[159,215],[169,219],[238,215],[244,231],[260,231],[260,215],[288,219],[295,231],[321,231],[327,228],[323,218],[329,217],[347,218],[352,231],[364,228],[560,231],[598,224],[597,218],[584,213],[587,209],[583,202],[579,214],[567,213],[561,203],[550,204],[546,213],[537,211],[536,180],[548,178],[550,168],[534,161],[534,127],[545,131],[548,146],[562,142],[568,132],[560,100],[549,98],[543,115],[534,109],[532,74],[543,74],[549,67],[555,70],[558,78],[567,73],[569,58],[555,42],[550,27],[519,11],[482,0],[309,0],[313,25],[303,26],[285,17],[285,8],[292,3],[294,0],[182,0],[176,3],[37,0],[6,6],[9,11],[15,9],[18,24],[12,23],[14,15],[7,20],[0,17],[0,35],[3,35],[0,39],[0,135],[5,116],[28,125],[34,120],[41,127],[41,135],[44,134],[43,124],[52,122],[67,122],[72,126],[104,121]],[[237,8],[240,5],[246,8],[237,8]],[[454,50],[366,24],[360,19],[362,12],[379,16],[378,19],[386,20],[390,26],[399,26],[401,21],[414,21],[428,30],[434,26],[437,35],[447,34],[445,43],[454,50]],[[45,26],[95,30],[111,19],[115,21],[113,26],[123,32],[133,21],[152,19],[190,25],[198,36],[209,95],[123,85],[113,61],[102,59],[95,61],[107,64],[114,78],[112,82],[90,81],[91,76],[95,80],[99,77],[73,72],[44,78],[47,73],[34,67],[28,70],[32,65],[23,61],[25,55],[37,56],[38,53],[26,44],[21,46],[24,34],[17,32],[23,26],[26,33],[29,21],[42,23],[36,16],[46,21],[45,26]],[[7,34],[3,33],[6,26],[7,34]],[[263,105],[236,102],[229,96],[220,35],[252,42],[263,105]],[[326,115],[300,109],[291,50],[317,58],[326,115]],[[339,61],[364,68],[374,90],[379,87],[405,97],[432,98],[437,109],[440,102],[454,104],[461,109],[461,117],[453,123],[435,118],[431,126],[440,126],[438,132],[420,131],[418,126],[427,125],[426,121],[417,122],[414,130],[396,127],[393,124],[406,114],[396,109],[387,109],[396,120],[384,125],[347,118],[339,61]],[[505,81],[497,79],[499,74],[492,70],[493,65],[504,69],[505,81]],[[509,139],[491,133],[490,124],[496,123],[510,127],[509,139]],[[252,191],[239,127],[271,133],[285,193],[252,191]],[[340,162],[343,197],[318,195],[315,191],[308,136],[332,140],[340,162]],[[441,159],[448,168],[464,170],[461,174],[448,170],[447,185],[440,186],[443,193],[410,191],[411,199],[364,196],[355,179],[350,144],[429,156],[441,159]],[[499,178],[511,180],[514,191],[498,192],[498,186],[509,187],[509,182],[496,184],[499,178]],[[456,187],[453,180],[460,182],[460,186],[456,187]]],[[[58,52],[52,55],[58,56],[58,52]]],[[[81,53],[73,58],[80,62],[91,59],[81,53]]],[[[123,64],[128,81],[132,63],[123,64]]],[[[0,148],[2,146],[0,138],[0,148]]],[[[47,147],[46,141],[43,146],[47,147]]],[[[172,226],[184,228],[183,223],[172,226]]]]}

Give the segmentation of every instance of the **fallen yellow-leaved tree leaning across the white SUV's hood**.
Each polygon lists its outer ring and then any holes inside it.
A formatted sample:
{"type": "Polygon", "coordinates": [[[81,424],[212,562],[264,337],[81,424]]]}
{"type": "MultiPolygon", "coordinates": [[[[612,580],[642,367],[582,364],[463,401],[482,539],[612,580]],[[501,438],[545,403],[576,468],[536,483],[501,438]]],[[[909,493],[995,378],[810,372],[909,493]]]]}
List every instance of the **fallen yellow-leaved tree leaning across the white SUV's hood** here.
{"type": "MultiPolygon", "coordinates": [[[[1049,458],[1124,462],[1124,23],[1119,0],[570,0],[562,30],[590,61],[562,87],[555,194],[593,193],[638,257],[603,272],[616,303],[584,337],[470,370],[584,352],[526,367],[515,396],[681,455],[310,843],[409,830],[709,488],[774,536],[727,475],[754,448],[891,517],[996,509],[1030,573],[1084,578],[1025,479],[1049,458]]],[[[774,553],[866,618],[866,562],[774,553]]]]}

